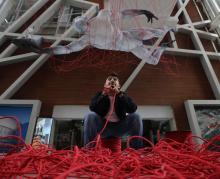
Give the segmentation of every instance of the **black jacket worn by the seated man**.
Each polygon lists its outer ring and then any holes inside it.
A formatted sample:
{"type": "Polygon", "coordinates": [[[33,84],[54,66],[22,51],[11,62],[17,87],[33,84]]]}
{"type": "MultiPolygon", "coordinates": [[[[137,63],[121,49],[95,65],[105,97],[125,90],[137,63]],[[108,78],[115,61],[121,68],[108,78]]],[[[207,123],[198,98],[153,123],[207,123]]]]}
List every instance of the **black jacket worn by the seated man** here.
{"type": "MultiPolygon", "coordinates": [[[[126,113],[133,113],[137,105],[124,92],[119,92],[115,97],[115,113],[120,120],[126,118],[126,113]]],[[[91,100],[90,110],[94,111],[101,117],[105,117],[110,110],[110,99],[108,95],[98,92],[91,100]]]]}

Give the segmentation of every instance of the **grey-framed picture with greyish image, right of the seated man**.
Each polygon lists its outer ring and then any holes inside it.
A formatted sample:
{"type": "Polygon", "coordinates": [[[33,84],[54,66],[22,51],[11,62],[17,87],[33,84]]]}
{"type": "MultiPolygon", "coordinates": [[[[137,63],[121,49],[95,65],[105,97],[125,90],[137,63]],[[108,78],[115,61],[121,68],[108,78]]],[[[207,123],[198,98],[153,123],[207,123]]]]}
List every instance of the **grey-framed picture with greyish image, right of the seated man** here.
{"type": "Polygon", "coordinates": [[[220,100],[188,100],[185,108],[194,135],[211,139],[220,134],[220,100]]]}

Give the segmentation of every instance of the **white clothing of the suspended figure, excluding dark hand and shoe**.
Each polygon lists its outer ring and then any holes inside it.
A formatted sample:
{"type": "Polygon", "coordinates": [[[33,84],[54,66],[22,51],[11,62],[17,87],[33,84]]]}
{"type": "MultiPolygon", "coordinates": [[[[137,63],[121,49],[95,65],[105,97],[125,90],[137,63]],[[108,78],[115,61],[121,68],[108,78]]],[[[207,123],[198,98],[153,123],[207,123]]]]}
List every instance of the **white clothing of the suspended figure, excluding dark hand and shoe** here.
{"type": "MultiPolygon", "coordinates": [[[[133,10],[133,15],[132,10],[130,11],[129,17],[139,15],[137,10],[133,10]]],[[[172,27],[164,26],[157,29],[145,27],[121,30],[119,22],[124,17],[127,18],[128,13],[124,16],[121,12],[113,14],[112,11],[103,9],[99,11],[96,17],[90,20],[87,20],[85,17],[76,18],[74,27],[78,32],[84,33],[84,35],[67,46],[53,48],[53,53],[56,55],[69,54],[91,45],[99,49],[131,52],[147,63],[156,65],[164,48],[157,48],[151,54],[143,44],[143,40],[164,36],[172,27]]],[[[147,17],[146,21],[149,21],[147,17]]]]}

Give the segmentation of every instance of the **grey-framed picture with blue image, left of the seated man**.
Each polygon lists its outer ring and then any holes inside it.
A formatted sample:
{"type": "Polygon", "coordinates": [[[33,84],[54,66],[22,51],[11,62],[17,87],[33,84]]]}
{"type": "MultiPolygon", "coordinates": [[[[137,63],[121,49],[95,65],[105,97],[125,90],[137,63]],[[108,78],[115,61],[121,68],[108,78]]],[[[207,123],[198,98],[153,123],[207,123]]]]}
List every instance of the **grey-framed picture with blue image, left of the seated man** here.
{"type": "MultiPolygon", "coordinates": [[[[40,107],[39,100],[0,100],[0,116],[16,117],[21,125],[22,138],[26,144],[31,144],[40,107]]],[[[15,120],[0,120],[0,136],[16,134],[17,130],[15,120]]]]}

